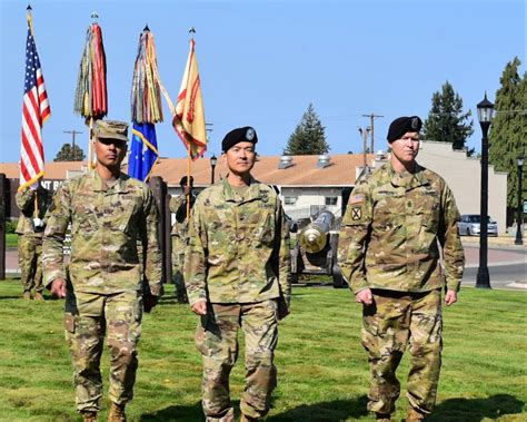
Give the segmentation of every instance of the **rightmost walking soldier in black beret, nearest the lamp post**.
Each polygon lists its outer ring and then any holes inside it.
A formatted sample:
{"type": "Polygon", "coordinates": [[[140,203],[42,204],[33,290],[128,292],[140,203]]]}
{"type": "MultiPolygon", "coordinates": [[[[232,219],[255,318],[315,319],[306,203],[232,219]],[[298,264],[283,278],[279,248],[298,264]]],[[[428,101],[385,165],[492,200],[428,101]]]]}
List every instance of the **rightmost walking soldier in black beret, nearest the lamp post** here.
{"type": "Polygon", "coordinates": [[[396,370],[408,343],[407,421],[420,421],[434,410],[441,288],[445,305],[457,302],[465,264],[453,193],[416,161],[420,128],[417,116],[391,122],[390,163],[358,180],[340,232],[339,265],[364,305],[362,345],[371,370],[368,410],[380,421],[390,421],[395,411],[400,392],[396,370]]]}

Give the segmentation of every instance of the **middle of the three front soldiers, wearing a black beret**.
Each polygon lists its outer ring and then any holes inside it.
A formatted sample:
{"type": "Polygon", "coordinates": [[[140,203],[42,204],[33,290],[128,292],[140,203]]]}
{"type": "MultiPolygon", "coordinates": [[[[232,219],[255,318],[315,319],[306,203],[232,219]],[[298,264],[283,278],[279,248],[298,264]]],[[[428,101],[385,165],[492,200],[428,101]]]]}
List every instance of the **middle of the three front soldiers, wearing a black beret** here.
{"type": "Polygon", "coordinates": [[[229,374],[240,327],[247,371],[242,421],[268,413],[277,383],[278,320],[289,313],[291,295],[289,232],[278,195],[250,175],[257,141],[251,127],[226,135],[221,148],[229,173],[200,193],[189,225],[185,284],[192,312],[201,316],[196,345],[207,421],[233,421],[229,374]]]}

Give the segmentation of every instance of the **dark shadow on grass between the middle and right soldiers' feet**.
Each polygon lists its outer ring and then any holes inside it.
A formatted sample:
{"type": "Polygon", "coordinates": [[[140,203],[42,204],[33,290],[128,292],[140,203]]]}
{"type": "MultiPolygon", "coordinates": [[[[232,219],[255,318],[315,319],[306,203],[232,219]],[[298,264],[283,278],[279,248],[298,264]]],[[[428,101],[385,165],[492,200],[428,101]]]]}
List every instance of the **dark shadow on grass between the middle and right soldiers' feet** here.
{"type": "Polygon", "coordinates": [[[267,421],[345,421],[347,419],[359,419],[368,414],[366,404],[368,399],[361,395],[351,400],[334,400],[314,404],[301,404],[295,409],[267,418],[267,421]]]}

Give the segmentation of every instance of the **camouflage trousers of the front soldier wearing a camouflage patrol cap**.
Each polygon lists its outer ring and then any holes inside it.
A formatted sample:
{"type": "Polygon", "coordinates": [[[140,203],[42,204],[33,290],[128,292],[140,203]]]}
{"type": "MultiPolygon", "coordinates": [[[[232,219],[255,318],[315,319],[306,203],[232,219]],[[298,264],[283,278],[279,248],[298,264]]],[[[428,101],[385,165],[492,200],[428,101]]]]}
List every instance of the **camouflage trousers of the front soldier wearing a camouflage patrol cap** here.
{"type": "Polygon", "coordinates": [[[142,297],[138,292],[73,295],[68,291],[64,328],[73,364],[76,405],[79,412],[97,412],[100,409],[100,360],[105,335],[110,350],[108,395],[117,404],[125,404],[133,398],[141,317],[142,297]]]}

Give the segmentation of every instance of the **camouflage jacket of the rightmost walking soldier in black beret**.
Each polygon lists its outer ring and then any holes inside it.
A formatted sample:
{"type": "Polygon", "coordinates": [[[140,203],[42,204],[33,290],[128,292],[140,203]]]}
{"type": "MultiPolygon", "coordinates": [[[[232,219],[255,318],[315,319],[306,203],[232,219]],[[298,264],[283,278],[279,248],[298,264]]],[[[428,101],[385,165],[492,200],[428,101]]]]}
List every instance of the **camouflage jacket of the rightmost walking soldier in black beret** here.
{"type": "Polygon", "coordinates": [[[427,292],[445,284],[459,291],[465,255],[453,193],[419,165],[406,176],[388,163],[358,180],[349,197],[338,261],[355,293],[368,287],[427,292]]]}

